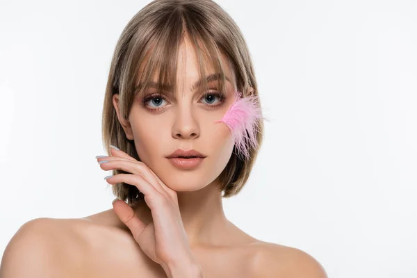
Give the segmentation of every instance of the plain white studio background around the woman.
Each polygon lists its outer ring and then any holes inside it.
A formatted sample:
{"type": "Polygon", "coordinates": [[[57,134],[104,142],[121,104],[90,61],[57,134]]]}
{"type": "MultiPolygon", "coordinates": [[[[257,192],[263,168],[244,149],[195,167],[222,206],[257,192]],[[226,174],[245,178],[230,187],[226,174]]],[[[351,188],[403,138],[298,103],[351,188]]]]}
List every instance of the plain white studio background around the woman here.
{"type": "MultiPolygon", "coordinates": [[[[0,254],[33,218],[111,208],[95,156],[111,56],[149,1],[1,1],[0,254]]],[[[218,1],[240,26],[265,140],[224,199],[329,277],[417,277],[417,2],[218,1]]]]}

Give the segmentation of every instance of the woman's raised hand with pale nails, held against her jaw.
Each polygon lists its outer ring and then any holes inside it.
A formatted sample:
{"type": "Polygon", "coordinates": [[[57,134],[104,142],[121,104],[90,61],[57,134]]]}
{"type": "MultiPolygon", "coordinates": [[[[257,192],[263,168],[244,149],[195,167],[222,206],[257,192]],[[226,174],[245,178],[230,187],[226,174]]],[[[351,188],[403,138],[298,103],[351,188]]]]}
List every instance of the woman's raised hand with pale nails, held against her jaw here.
{"type": "Polygon", "coordinates": [[[183,227],[177,192],[165,186],[145,163],[121,150],[111,148],[111,156],[97,158],[97,162],[101,161],[108,161],[99,164],[103,170],[120,169],[131,173],[109,177],[108,183],[128,183],[145,195],[145,202],[152,211],[153,222],[149,224],[142,222],[123,200],[113,202],[113,210],[129,227],[142,251],[159,263],[168,277],[172,277],[173,272],[181,272],[179,275],[183,277],[186,273],[182,271],[199,270],[183,227]]]}

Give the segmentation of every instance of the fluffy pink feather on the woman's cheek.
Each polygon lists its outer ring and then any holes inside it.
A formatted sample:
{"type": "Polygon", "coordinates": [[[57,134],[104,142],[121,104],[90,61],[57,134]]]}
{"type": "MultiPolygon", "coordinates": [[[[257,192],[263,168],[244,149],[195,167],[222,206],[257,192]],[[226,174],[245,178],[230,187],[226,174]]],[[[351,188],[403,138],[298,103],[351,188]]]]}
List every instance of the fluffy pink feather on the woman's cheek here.
{"type": "Polygon", "coordinates": [[[234,102],[224,114],[222,120],[215,122],[224,122],[229,127],[238,154],[247,158],[250,156],[250,147],[258,147],[256,131],[259,129],[259,120],[262,118],[258,97],[254,95],[241,97],[240,92],[236,90],[234,102]]]}

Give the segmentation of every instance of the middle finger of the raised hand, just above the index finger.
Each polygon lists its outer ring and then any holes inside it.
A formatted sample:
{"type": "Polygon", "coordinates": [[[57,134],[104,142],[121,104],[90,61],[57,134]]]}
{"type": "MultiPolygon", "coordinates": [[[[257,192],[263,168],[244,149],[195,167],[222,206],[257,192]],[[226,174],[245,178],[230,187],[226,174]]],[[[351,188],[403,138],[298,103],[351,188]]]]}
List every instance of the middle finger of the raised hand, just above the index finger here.
{"type": "MultiPolygon", "coordinates": [[[[113,156],[114,157],[114,156],[113,156]]],[[[101,158],[105,159],[105,158],[101,158]]],[[[165,184],[161,184],[156,175],[152,174],[152,170],[142,163],[141,161],[129,161],[127,159],[120,159],[120,158],[109,158],[107,163],[100,164],[101,169],[108,171],[113,169],[120,169],[132,174],[140,174],[144,177],[156,190],[160,193],[167,193],[167,190],[163,188],[165,184]]],[[[166,187],[166,186],[165,186],[166,187]]]]}

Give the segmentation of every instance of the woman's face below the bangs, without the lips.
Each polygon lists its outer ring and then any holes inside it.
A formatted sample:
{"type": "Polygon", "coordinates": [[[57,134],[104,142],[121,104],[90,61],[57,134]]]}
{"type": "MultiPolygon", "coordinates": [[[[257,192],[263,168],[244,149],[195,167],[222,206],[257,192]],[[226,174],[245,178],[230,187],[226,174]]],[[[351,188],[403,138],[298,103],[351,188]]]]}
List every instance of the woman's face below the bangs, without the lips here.
{"type": "MultiPolygon", "coordinates": [[[[179,91],[174,97],[158,95],[151,88],[142,99],[135,99],[124,131],[134,140],[140,160],[151,168],[165,183],[176,191],[193,191],[214,181],[226,167],[234,147],[227,126],[215,123],[222,119],[233,102],[236,81],[227,60],[222,57],[227,76],[227,93],[224,99],[218,81],[208,83],[208,93],[192,90],[199,79],[198,60],[193,47],[186,40],[179,49],[177,83],[179,91]],[[185,74],[184,74],[185,73],[185,74]],[[167,158],[177,149],[195,149],[205,158],[193,169],[174,166],[167,158]]],[[[210,65],[206,74],[215,74],[210,65]]],[[[152,81],[155,81],[153,79],[152,81]]],[[[117,97],[113,104],[117,107],[117,97]]],[[[118,113],[118,111],[117,111],[118,113]]],[[[119,117],[120,119],[120,117],[119,117]]]]}

